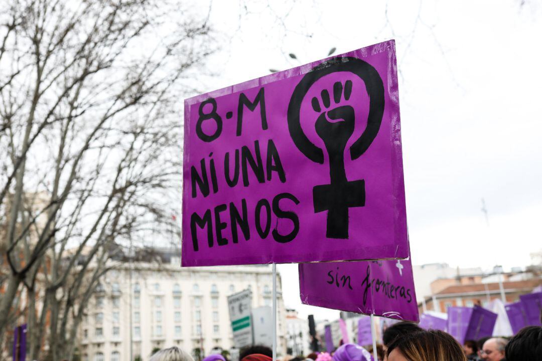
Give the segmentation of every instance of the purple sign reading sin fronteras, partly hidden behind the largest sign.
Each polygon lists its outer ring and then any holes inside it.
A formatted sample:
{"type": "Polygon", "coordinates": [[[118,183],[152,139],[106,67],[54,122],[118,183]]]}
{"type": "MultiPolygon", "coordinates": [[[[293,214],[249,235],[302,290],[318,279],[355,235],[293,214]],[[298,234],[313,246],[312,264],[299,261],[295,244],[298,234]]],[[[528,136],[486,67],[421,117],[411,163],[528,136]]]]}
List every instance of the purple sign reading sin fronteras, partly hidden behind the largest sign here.
{"type": "Polygon", "coordinates": [[[301,302],[418,322],[410,260],[299,265],[301,302]]]}

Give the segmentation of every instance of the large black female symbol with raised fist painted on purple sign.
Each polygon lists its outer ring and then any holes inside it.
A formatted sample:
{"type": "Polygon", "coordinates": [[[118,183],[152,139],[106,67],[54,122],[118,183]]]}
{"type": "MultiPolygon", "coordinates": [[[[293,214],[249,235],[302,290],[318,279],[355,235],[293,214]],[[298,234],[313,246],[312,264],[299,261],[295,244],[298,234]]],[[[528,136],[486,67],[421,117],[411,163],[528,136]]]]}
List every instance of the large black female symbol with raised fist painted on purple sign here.
{"type": "MultiPolygon", "coordinates": [[[[375,139],[382,116],[384,114],[384,84],[375,68],[369,63],[354,57],[337,57],[318,65],[307,73],[295,87],[288,105],[288,130],[295,146],[308,159],[323,164],[324,152],[314,145],[301,129],[299,112],[301,103],[311,86],[321,77],[347,71],[360,77],[369,95],[369,116],[367,126],[362,135],[350,147],[352,160],[365,153],[375,139]]],[[[343,84],[337,82],[333,86],[335,103],[339,103],[343,93],[343,84]]],[[[352,82],[346,81],[344,96],[348,100],[352,90],[352,82]]],[[[322,90],[322,103],[330,107],[327,90],[322,90]]],[[[318,99],[312,99],[314,110],[320,111],[318,99]]],[[[348,210],[351,207],[365,205],[365,181],[346,179],[344,169],[344,150],[346,142],[354,130],[354,111],[350,106],[341,106],[324,111],[318,117],[315,128],[318,136],[324,141],[330,159],[330,184],[315,186],[312,189],[314,212],[327,212],[327,238],[348,238],[348,210]],[[333,120],[331,122],[330,120],[333,120]]]]}

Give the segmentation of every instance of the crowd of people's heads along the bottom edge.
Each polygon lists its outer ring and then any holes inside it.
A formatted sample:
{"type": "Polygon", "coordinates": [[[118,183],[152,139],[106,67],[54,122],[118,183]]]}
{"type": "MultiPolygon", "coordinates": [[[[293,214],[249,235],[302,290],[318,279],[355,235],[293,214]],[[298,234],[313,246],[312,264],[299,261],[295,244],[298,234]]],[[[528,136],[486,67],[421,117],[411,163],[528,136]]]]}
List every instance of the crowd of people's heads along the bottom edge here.
{"type": "MultiPolygon", "coordinates": [[[[528,326],[510,339],[486,337],[467,340],[461,346],[450,334],[424,330],[408,322],[397,323],[384,331],[383,344],[377,345],[378,361],[542,361],[542,327],[528,326]]],[[[250,346],[239,355],[240,361],[273,361],[266,346],[250,346]]],[[[150,361],[193,361],[192,357],[171,347],[155,353],[150,361]]],[[[210,355],[203,361],[228,361],[210,355]]],[[[283,357],[281,361],[375,361],[372,348],[343,344],[334,352],[311,353],[306,357],[283,357]]]]}

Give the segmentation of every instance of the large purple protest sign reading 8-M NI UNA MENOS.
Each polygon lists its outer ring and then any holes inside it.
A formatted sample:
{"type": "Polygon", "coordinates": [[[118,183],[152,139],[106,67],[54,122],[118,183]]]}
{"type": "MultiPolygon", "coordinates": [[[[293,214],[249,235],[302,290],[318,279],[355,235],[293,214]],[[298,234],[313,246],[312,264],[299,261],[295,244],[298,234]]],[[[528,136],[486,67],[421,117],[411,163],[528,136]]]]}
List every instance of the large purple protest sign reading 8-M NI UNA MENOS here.
{"type": "Polygon", "coordinates": [[[187,99],[183,266],[408,257],[396,63],[387,41],[187,99]]]}

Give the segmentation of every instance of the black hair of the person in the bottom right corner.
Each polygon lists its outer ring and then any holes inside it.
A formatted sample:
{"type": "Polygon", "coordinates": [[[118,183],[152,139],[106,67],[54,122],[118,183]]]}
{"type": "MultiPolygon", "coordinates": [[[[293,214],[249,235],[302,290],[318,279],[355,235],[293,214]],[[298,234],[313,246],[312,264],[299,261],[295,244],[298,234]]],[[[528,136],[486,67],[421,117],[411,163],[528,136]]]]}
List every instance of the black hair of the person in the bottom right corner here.
{"type": "Polygon", "coordinates": [[[542,327],[527,326],[510,339],[505,347],[507,361],[540,361],[542,356],[542,327]]]}

